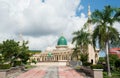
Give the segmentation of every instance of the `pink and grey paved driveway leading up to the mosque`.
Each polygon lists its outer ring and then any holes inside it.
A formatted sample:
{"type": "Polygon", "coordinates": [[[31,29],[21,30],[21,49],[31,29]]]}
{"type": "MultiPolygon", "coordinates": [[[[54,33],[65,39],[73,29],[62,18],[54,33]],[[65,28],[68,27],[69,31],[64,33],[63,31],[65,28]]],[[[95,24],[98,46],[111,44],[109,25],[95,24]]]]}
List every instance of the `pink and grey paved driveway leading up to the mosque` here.
{"type": "Polygon", "coordinates": [[[67,67],[64,63],[41,63],[37,67],[16,78],[85,78],[73,68],[67,67]]]}

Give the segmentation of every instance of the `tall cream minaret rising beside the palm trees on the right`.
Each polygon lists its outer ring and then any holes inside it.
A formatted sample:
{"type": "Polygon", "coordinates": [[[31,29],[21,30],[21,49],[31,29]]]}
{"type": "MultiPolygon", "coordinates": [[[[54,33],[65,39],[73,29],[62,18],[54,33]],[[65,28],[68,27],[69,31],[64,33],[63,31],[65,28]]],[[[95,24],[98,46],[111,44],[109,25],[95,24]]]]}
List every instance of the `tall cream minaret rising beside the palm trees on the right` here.
{"type": "MultiPolygon", "coordinates": [[[[88,33],[92,35],[92,26],[91,26],[91,11],[90,11],[90,5],[88,5],[88,33]]],[[[92,38],[90,36],[90,40],[92,41],[92,38]]],[[[88,45],[88,62],[95,64],[95,50],[93,48],[92,44],[88,45]]]]}

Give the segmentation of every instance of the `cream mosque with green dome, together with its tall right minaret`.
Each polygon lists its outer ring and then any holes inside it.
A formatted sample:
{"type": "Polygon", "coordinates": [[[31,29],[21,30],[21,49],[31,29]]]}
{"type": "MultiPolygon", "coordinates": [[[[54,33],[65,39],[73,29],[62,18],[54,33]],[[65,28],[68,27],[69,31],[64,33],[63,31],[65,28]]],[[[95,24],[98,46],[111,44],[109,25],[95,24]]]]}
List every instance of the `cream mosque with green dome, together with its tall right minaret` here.
{"type": "MultiPolygon", "coordinates": [[[[88,6],[88,20],[91,18],[90,6],[88,6]]],[[[88,23],[88,32],[92,34],[91,23],[88,23]]],[[[73,47],[67,45],[67,39],[61,36],[58,39],[55,49],[48,47],[45,52],[33,55],[33,59],[39,62],[58,62],[58,61],[69,61],[73,53],[73,47]]],[[[93,45],[88,45],[88,62],[96,64],[99,59],[99,50],[94,50],[93,45]]]]}

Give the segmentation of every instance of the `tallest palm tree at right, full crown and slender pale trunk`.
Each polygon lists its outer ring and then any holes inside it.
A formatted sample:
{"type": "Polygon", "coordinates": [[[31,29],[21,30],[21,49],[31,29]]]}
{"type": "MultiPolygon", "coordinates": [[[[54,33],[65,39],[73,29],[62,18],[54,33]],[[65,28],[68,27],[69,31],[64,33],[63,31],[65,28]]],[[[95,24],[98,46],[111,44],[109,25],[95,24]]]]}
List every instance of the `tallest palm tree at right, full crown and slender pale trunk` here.
{"type": "Polygon", "coordinates": [[[96,25],[92,36],[93,45],[95,47],[96,40],[99,40],[100,49],[106,51],[108,76],[111,76],[108,54],[109,44],[119,38],[119,32],[113,27],[116,21],[119,22],[120,20],[111,6],[105,6],[103,11],[95,10],[91,16],[91,23],[96,25]]]}

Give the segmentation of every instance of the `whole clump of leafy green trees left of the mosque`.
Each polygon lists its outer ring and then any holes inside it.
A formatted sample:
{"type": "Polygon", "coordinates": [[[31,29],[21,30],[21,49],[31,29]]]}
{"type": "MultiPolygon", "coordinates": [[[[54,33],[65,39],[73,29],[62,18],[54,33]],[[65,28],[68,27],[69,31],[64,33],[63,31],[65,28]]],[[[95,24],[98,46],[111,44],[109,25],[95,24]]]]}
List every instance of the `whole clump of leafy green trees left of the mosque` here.
{"type": "Polygon", "coordinates": [[[5,62],[10,62],[11,66],[14,65],[14,61],[20,59],[23,64],[26,64],[30,59],[30,53],[27,46],[28,42],[23,41],[22,45],[20,42],[14,40],[6,40],[0,44],[0,52],[4,57],[5,62]]]}

